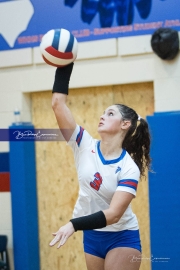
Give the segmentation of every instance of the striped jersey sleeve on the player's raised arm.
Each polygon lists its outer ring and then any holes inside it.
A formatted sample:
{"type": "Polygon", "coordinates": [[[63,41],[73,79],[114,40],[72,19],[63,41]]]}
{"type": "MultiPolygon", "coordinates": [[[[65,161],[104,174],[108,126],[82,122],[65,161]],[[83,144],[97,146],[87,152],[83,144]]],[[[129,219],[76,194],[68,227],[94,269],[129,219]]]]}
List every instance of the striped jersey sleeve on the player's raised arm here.
{"type": "Polygon", "coordinates": [[[82,151],[83,149],[90,147],[92,141],[93,138],[91,135],[83,127],[76,125],[76,128],[67,144],[71,146],[74,151],[82,151]]]}

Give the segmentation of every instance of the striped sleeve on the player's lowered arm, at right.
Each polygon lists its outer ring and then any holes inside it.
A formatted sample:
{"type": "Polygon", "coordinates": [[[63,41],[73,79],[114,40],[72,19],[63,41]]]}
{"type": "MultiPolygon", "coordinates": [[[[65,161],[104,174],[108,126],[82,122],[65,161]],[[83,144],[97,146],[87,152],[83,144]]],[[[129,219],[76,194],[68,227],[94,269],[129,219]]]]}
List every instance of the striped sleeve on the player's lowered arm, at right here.
{"type": "Polygon", "coordinates": [[[116,191],[126,191],[132,193],[136,197],[137,186],[140,178],[140,171],[134,164],[120,173],[118,186],[116,191]]]}

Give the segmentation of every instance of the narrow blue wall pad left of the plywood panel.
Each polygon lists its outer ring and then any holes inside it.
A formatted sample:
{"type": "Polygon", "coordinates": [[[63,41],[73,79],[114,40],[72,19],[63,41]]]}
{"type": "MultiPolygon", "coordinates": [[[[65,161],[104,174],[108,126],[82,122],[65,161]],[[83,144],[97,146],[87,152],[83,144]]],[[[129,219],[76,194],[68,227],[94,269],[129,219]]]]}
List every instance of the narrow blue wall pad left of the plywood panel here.
{"type": "MultiPolygon", "coordinates": [[[[28,123],[29,124],[29,123],[28,123]]],[[[10,129],[33,129],[32,125],[10,129]]],[[[35,143],[10,141],[10,175],[15,270],[39,270],[35,143]]]]}

